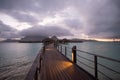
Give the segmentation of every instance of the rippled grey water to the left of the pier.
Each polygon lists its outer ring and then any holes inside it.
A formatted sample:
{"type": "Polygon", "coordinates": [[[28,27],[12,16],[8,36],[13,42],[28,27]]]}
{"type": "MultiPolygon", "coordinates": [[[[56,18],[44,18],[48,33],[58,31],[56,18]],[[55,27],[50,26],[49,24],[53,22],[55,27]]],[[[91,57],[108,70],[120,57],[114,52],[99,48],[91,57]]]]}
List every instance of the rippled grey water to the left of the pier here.
{"type": "Polygon", "coordinates": [[[0,80],[24,80],[41,43],[0,43],[0,80]]]}

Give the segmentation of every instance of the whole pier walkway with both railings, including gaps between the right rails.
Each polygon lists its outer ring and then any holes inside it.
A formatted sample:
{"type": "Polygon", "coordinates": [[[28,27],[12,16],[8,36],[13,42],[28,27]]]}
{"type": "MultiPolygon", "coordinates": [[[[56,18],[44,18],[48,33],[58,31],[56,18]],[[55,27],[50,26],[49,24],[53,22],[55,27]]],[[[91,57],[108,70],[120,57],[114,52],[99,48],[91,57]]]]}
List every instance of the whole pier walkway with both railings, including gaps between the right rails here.
{"type": "Polygon", "coordinates": [[[57,45],[55,48],[49,44],[40,50],[25,80],[120,80],[119,66],[120,60],[79,50],[76,46],[57,45]]]}

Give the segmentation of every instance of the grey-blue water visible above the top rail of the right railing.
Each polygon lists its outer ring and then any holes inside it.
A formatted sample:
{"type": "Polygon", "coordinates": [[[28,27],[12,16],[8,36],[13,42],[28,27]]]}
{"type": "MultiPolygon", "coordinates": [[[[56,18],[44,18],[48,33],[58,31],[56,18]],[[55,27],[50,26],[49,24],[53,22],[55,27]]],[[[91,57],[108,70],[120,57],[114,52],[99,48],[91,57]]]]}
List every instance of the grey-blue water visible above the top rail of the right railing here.
{"type": "Polygon", "coordinates": [[[120,60],[120,42],[83,42],[69,43],[67,46],[120,60]]]}

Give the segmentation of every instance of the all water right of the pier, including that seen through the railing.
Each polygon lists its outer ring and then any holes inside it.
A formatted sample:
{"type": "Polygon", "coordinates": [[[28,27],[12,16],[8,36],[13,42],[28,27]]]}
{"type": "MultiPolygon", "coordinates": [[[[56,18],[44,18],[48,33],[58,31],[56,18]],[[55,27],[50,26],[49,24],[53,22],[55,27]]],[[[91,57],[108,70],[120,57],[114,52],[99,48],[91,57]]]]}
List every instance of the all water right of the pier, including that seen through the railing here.
{"type": "MultiPolygon", "coordinates": [[[[93,54],[120,60],[120,42],[69,43],[69,44],[65,45],[65,46],[69,47],[69,48],[67,48],[67,57],[69,59],[72,59],[71,48],[75,45],[77,46],[77,49],[79,49],[79,50],[83,50],[83,51],[90,52],[93,54]]],[[[63,53],[64,52],[65,51],[63,49],[63,53]]],[[[94,56],[77,51],[77,60],[79,60],[79,61],[77,61],[77,64],[80,65],[85,70],[87,70],[92,75],[94,75],[94,69],[90,68],[90,67],[94,68],[94,63],[86,60],[85,58],[94,61],[94,56]],[[79,56],[82,56],[84,58],[81,58],[79,56]],[[83,63],[85,63],[86,65],[88,65],[90,67],[82,64],[80,61],[82,61],[83,63]]],[[[114,61],[106,60],[106,59],[99,58],[99,57],[98,57],[98,63],[105,65],[105,66],[120,73],[120,63],[116,63],[114,61]]],[[[101,71],[102,73],[104,73],[105,75],[109,76],[113,80],[120,80],[120,74],[112,72],[100,65],[98,65],[98,70],[101,71]]],[[[103,76],[100,72],[98,73],[98,76],[99,76],[100,80],[109,80],[106,76],[103,76]]]]}

